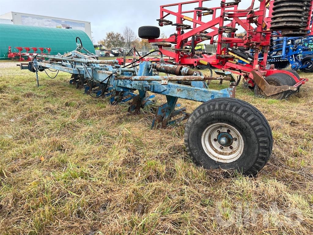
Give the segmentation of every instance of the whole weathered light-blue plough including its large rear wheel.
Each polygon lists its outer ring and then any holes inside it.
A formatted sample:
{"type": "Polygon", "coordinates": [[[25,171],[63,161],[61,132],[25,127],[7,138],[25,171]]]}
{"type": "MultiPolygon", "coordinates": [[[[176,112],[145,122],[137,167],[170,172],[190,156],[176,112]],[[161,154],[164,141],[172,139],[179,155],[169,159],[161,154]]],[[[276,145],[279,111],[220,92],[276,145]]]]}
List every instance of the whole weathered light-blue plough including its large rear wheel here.
{"type": "Polygon", "coordinates": [[[234,98],[239,81],[230,72],[216,71],[218,76],[205,76],[189,67],[165,63],[162,57],[158,63],[134,61],[121,66],[117,60],[97,60],[82,50],[78,44],[76,50],[65,55],[37,55],[20,67],[36,74],[38,86],[40,71],[67,72],[71,74],[69,83],[76,88],[94,98],[107,97],[112,105],[129,104],[128,112],[134,114],[143,107],[156,106],[149,92],[165,95],[167,102],[158,106],[152,128],[165,128],[188,119],[184,133],[186,152],[206,169],[233,169],[256,175],[269,159],[273,143],[269,124],[254,106],[234,98]],[[153,76],[153,70],[164,76],[153,76]],[[229,87],[209,89],[211,80],[227,80],[229,87]],[[177,104],[178,99],[203,104],[188,113],[177,104]]]}

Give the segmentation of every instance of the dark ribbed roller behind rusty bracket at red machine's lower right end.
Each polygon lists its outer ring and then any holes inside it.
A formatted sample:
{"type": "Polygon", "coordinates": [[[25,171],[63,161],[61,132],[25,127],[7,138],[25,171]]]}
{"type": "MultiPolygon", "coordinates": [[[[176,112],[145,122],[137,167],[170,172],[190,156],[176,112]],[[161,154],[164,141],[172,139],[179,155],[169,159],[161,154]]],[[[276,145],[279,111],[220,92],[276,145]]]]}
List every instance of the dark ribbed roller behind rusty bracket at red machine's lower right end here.
{"type": "MultiPolygon", "coordinates": [[[[294,70],[287,70],[287,71],[293,73],[295,76],[297,76],[298,79],[300,79],[300,76],[299,74],[297,74],[296,71],[294,70]]],[[[265,77],[264,79],[271,86],[285,86],[285,85],[294,86],[295,85],[295,79],[285,73],[275,73],[275,74],[265,77]]],[[[271,96],[266,96],[257,84],[254,85],[254,94],[257,97],[265,97],[265,98],[270,98],[270,99],[282,100],[282,99],[288,98],[292,93],[294,93],[294,91],[283,91],[283,92],[280,92],[271,96]]]]}

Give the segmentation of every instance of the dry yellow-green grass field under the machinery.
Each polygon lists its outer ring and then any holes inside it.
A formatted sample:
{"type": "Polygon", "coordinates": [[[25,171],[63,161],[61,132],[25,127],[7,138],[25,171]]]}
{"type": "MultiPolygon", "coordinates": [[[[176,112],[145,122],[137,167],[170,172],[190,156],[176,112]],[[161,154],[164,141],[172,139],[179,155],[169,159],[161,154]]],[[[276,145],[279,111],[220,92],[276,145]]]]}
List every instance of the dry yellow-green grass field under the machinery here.
{"type": "Polygon", "coordinates": [[[313,234],[312,81],[281,101],[238,87],[274,137],[249,178],[195,166],[184,123],[151,130],[149,109],[129,114],[69,78],[41,72],[37,87],[0,64],[0,234],[313,234]]]}

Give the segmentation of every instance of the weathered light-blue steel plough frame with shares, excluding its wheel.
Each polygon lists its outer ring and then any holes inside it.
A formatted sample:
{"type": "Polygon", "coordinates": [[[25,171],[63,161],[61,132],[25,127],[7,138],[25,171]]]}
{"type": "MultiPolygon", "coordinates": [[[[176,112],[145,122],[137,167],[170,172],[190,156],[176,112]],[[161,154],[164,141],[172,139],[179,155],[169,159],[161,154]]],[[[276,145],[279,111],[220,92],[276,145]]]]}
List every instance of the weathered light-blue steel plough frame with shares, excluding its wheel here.
{"type": "MultiPolygon", "coordinates": [[[[92,81],[96,86],[101,87],[96,93],[110,96],[111,104],[132,100],[129,112],[139,112],[141,107],[153,102],[151,99],[154,95],[150,96],[148,92],[165,95],[167,102],[158,107],[152,127],[160,123],[161,127],[164,128],[166,125],[179,123],[189,118],[190,114],[185,112],[186,108],[180,108],[180,104],[177,104],[178,98],[207,102],[215,98],[234,97],[235,93],[236,81],[229,72],[226,72],[225,76],[231,77],[230,87],[213,90],[208,88],[207,83],[204,82],[205,77],[199,73],[189,77],[152,76],[152,67],[154,65],[149,61],[140,62],[137,71],[136,68],[122,68],[116,60],[89,60],[90,57],[78,51],[69,54],[72,57],[39,55],[30,62],[28,69],[35,71],[37,78],[38,70],[43,71],[49,68],[72,74],[72,79],[69,81],[71,84],[75,84],[79,78],[83,78],[84,81],[92,81]],[[43,60],[44,58],[61,61],[49,62],[43,60]],[[183,85],[181,81],[191,81],[191,85],[183,85]],[[106,86],[103,84],[106,84],[106,86]],[[105,92],[101,89],[105,89],[105,92]],[[138,94],[134,93],[136,90],[138,90],[138,94]],[[177,107],[178,109],[176,109],[177,107]],[[177,115],[180,117],[177,117],[177,115]]],[[[176,66],[165,63],[164,65],[168,67],[176,66]]],[[[89,86],[86,83],[86,93],[90,90],[89,86]]]]}

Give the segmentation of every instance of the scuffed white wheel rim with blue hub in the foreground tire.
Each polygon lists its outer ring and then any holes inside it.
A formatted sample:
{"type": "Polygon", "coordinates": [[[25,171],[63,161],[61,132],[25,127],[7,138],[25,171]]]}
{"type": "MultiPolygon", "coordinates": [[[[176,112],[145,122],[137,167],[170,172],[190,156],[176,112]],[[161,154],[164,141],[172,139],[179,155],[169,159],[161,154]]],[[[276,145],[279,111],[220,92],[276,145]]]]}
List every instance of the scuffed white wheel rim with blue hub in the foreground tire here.
{"type": "Polygon", "coordinates": [[[202,133],[205,153],[216,162],[233,162],[244,152],[244,139],[239,131],[227,123],[213,123],[202,133]]]}

